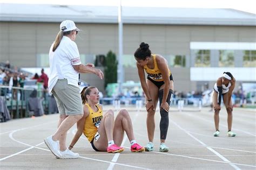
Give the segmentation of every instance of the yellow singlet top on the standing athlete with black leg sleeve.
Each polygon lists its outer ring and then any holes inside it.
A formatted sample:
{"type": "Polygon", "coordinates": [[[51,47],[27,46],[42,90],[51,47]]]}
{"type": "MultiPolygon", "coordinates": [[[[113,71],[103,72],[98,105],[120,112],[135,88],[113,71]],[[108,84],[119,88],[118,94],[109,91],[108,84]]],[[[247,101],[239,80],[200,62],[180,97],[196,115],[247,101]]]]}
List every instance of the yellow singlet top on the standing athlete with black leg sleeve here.
{"type": "MultiPolygon", "coordinates": [[[[147,78],[150,78],[154,81],[164,81],[163,76],[157,66],[156,54],[152,54],[152,55],[154,60],[154,68],[150,69],[149,67],[147,67],[147,65],[144,66],[144,70],[147,73],[147,78]]],[[[170,69],[169,69],[169,76],[171,76],[170,69]]]]}

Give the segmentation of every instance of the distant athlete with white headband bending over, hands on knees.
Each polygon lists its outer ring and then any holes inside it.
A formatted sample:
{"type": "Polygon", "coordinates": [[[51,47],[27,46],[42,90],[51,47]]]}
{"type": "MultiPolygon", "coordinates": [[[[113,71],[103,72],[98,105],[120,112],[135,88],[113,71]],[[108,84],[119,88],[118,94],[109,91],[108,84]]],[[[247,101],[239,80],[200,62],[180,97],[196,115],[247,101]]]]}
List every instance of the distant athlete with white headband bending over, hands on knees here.
{"type": "Polygon", "coordinates": [[[235,137],[235,133],[231,131],[232,128],[232,110],[233,104],[231,100],[232,92],[235,87],[235,78],[230,72],[224,72],[222,77],[217,79],[217,82],[214,84],[213,88],[213,109],[214,109],[214,123],[216,132],[213,133],[213,136],[219,136],[219,112],[221,98],[223,98],[223,103],[225,104],[227,110],[227,136],[235,137]]]}

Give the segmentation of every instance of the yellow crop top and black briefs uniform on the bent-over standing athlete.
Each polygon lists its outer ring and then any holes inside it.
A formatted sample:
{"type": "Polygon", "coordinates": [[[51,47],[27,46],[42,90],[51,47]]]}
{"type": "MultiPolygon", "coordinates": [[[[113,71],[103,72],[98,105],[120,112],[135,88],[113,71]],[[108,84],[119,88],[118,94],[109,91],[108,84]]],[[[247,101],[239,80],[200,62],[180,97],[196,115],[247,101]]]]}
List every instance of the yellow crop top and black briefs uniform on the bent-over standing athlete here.
{"type": "MultiPolygon", "coordinates": [[[[160,89],[160,87],[164,84],[164,79],[157,66],[156,54],[152,54],[152,55],[154,60],[154,68],[150,69],[149,67],[147,67],[147,65],[145,65],[144,70],[147,73],[147,79],[149,79],[152,83],[154,83],[158,87],[158,89],[160,89]]],[[[170,76],[170,80],[173,81],[173,77],[170,69],[169,69],[169,76],[170,76]]]]}

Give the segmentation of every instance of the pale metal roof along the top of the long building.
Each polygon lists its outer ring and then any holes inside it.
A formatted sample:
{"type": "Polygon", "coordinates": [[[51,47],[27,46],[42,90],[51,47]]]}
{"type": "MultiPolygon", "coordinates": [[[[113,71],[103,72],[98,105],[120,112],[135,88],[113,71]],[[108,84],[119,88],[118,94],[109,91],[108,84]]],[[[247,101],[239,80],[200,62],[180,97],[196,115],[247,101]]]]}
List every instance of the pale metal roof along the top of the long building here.
{"type": "MultiPolygon", "coordinates": [[[[234,9],[122,7],[124,24],[247,25],[256,26],[256,15],[234,9]]],[[[117,6],[50,4],[0,4],[0,21],[118,23],[117,6]]]]}

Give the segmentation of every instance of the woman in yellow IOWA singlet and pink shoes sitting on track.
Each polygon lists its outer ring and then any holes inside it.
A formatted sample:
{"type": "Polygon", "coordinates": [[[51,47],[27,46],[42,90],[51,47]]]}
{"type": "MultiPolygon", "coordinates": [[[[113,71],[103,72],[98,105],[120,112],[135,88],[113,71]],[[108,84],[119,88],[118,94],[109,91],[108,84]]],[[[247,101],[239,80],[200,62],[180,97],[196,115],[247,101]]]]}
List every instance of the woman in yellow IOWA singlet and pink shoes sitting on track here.
{"type": "Polygon", "coordinates": [[[131,143],[131,152],[145,151],[144,147],[137,144],[134,139],[131,118],[126,110],[120,110],[116,120],[114,120],[112,110],[108,110],[103,115],[102,105],[98,104],[99,91],[96,87],[85,87],[81,92],[81,97],[84,115],[77,122],[77,132],[69,146],[70,150],[84,133],[95,151],[122,152],[124,148],[120,145],[125,131],[131,143]]]}

